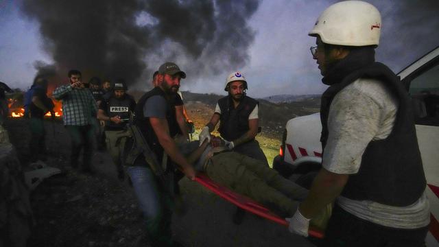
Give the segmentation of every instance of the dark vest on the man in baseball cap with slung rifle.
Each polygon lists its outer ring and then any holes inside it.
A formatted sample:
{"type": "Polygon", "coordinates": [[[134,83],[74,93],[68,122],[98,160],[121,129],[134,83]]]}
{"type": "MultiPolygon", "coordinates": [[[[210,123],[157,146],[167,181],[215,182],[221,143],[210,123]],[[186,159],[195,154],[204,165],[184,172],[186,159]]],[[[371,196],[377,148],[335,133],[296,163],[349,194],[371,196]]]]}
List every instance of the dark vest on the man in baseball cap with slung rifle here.
{"type": "MultiPolygon", "coordinates": [[[[158,162],[161,163],[163,158],[163,148],[158,142],[157,135],[150,124],[150,118],[143,115],[143,107],[145,106],[147,99],[154,95],[160,95],[161,97],[164,97],[166,99],[166,120],[169,126],[169,134],[171,135],[171,137],[175,137],[178,132],[175,106],[171,105],[169,99],[167,99],[167,95],[159,87],[155,87],[151,91],[145,93],[145,95],[143,95],[141,99],[139,99],[136,109],[134,110],[134,124],[139,127],[152,152],[156,154],[158,162]]],[[[170,167],[169,161],[170,158],[168,158],[168,167],[170,167]]]]}

